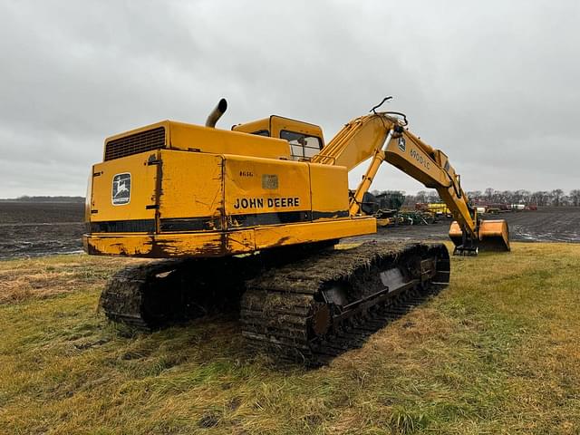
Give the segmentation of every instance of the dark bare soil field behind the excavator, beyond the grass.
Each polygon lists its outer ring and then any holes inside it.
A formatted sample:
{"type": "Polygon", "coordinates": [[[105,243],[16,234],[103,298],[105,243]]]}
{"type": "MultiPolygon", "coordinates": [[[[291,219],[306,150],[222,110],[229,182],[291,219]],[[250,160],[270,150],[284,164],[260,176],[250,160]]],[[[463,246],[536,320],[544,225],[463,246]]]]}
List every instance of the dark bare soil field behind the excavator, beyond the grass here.
{"type": "MultiPolygon", "coordinates": [[[[0,259],[82,251],[83,205],[0,202],[0,259]]],[[[580,208],[540,208],[488,216],[506,219],[512,240],[580,243],[580,208]]],[[[449,220],[430,226],[379,228],[351,240],[447,240],[449,220]]]]}

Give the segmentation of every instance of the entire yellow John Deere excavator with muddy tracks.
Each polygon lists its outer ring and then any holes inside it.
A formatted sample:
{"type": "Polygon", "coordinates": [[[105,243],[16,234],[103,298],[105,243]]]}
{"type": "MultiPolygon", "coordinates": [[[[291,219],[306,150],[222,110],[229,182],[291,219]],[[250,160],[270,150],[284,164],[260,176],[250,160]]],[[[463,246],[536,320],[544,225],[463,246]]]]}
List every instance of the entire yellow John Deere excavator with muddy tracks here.
{"type": "Polygon", "coordinates": [[[360,343],[449,283],[443,244],[333,247],[376,232],[361,205],[385,160],[437,189],[456,253],[509,250],[506,222],[478,218],[447,156],[380,105],[328,144],[320,127],[279,116],[218,130],[225,100],[205,126],[160,121],[106,139],[84,248],[162,259],[111,278],[108,318],[154,328],[241,295],[242,334],[259,349],[317,364],[360,343]],[[349,192],[348,172],[369,159],[349,192]]]}

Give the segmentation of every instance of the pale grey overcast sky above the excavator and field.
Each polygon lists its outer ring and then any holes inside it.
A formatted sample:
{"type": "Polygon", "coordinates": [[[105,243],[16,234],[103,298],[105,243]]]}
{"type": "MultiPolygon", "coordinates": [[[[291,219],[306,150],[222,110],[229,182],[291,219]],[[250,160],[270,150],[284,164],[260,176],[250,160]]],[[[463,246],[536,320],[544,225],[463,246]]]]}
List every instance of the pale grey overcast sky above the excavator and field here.
{"type": "MultiPolygon", "coordinates": [[[[0,16],[0,198],[84,195],[106,136],[203,123],[220,97],[221,128],[279,114],[328,141],[393,95],[464,189],[580,189],[577,1],[0,0],[0,16]]],[[[384,165],[372,189],[422,186],[384,165]]]]}

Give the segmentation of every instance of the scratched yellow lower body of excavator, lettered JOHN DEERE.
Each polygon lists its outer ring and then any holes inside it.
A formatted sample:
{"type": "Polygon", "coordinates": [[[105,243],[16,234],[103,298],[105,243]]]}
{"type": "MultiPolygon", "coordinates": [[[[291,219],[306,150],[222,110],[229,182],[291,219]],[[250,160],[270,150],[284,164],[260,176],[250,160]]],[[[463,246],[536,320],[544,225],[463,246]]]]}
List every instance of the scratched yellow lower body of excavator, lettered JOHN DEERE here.
{"type": "Polygon", "coordinates": [[[374,218],[348,216],[344,168],[164,149],[95,170],[90,254],[231,256],[376,231],[374,218]],[[115,177],[125,173],[131,200],[112,204],[115,177]]]}

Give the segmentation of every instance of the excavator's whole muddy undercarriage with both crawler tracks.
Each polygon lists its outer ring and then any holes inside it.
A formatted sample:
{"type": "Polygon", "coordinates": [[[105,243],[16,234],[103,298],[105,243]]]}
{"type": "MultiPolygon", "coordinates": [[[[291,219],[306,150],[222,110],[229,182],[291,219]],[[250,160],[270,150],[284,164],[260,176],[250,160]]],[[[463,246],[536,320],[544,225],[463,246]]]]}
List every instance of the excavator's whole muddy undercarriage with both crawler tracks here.
{"type": "Polygon", "coordinates": [[[442,244],[338,247],[131,266],[111,278],[101,306],[112,321],[155,329],[239,304],[250,347],[320,365],[449,284],[442,244]]]}

